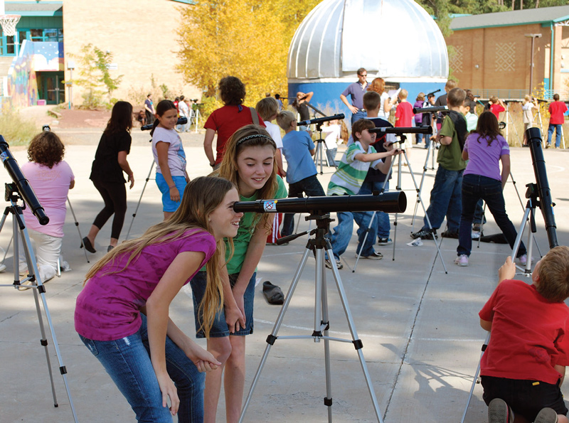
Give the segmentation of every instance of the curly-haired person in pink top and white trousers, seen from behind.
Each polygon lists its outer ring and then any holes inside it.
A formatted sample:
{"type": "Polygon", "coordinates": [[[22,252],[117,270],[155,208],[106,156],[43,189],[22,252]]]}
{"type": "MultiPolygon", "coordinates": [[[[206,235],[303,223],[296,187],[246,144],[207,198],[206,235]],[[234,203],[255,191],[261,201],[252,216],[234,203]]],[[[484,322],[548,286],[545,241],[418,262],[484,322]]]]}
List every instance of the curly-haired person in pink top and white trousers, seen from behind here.
{"type": "MultiPolygon", "coordinates": [[[[63,160],[65,146],[59,136],[44,131],[33,137],[28,146],[28,163],[22,166],[22,172],[38,196],[43,210],[49,217],[47,225],[40,225],[30,208],[23,210],[28,235],[36,242],[36,260],[39,277],[48,282],[55,276],[58,259],[63,243],[63,224],[65,223],[65,201],[67,194],[75,185],[75,176],[70,166],[63,160]]],[[[27,272],[28,264],[23,252],[19,251],[20,272],[27,272]]],[[[28,289],[26,281],[20,289],[28,289]]]]}

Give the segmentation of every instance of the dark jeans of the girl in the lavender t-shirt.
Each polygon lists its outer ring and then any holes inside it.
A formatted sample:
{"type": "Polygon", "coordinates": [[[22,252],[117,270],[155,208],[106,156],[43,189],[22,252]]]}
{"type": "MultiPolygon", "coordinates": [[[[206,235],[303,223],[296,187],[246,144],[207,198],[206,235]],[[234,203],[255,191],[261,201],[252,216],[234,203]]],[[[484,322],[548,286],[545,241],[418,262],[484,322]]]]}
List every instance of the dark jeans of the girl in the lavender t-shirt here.
{"type": "MultiPolygon", "coordinates": [[[[504,203],[501,181],[487,178],[486,176],[468,174],[462,179],[462,215],[460,217],[457,255],[470,255],[472,250],[470,229],[472,218],[474,217],[474,209],[480,198],[486,201],[486,206],[488,206],[490,213],[496,220],[496,224],[504,233],[510,247],[514,247],[518,233],[506,214],[506,203],[504,203]]],[[[526,246],[521,242],[517,257],[524,254],[526,254],[526,246]]]]}

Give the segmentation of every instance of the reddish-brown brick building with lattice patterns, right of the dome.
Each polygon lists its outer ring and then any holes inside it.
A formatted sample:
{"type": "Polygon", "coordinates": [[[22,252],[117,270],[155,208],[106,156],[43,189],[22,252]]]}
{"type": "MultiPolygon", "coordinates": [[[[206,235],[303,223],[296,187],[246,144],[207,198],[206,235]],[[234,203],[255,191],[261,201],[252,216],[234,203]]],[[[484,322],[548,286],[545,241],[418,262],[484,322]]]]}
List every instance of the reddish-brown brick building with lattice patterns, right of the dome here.
{"type": "Polygon", "coordinates": [[[543,82],[545,97],[569,96],[569,6],[458,16],[451,28],[450,69],[461,87],[483,98],[528,94],[533,34],[533,88],[543,82]]]}

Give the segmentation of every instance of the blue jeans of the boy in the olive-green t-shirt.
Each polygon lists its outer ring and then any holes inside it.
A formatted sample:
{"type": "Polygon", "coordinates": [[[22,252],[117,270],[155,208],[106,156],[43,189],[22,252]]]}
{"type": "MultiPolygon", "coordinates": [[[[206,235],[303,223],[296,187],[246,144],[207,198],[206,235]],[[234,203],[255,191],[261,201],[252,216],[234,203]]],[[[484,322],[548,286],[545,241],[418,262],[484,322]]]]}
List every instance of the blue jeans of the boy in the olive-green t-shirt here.
{"type": "MultiPolygon", "coordinates": [[[[432,186],[427,216],[433,229],[438,229],[447,216],[447,225],[450,232],[458,232],[462,203],[460,200],[462,187],[462,172],[448,171],[439,165],[435,176],[435,184],[432,186]]],[[[429,229],[427,218],[422,229],[429,229]]]]}

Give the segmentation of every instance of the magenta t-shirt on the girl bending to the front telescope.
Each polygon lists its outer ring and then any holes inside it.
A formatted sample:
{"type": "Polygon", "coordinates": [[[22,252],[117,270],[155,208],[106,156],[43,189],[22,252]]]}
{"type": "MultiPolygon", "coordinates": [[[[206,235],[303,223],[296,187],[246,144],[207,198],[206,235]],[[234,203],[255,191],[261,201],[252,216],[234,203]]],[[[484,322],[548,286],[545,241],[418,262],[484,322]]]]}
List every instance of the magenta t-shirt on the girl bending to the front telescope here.
{"type": "MultiPolygon", "coordinates": [[[[113,341],[136,333],[141,325],[140,309],[176,255],[186,251],[206,254],[199,269],[216,251],[216,240],[209,232],[188,229],[176,240],[144,247],[127,268],[124,264],[129,254],[105,264],[77,297],[75,331],[94,341],[113,341]],[[105,274],[113,270],[119,272],[105,274]]],[[[194,274],[188,275],[186,284],[194,274]]]]}

